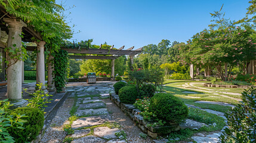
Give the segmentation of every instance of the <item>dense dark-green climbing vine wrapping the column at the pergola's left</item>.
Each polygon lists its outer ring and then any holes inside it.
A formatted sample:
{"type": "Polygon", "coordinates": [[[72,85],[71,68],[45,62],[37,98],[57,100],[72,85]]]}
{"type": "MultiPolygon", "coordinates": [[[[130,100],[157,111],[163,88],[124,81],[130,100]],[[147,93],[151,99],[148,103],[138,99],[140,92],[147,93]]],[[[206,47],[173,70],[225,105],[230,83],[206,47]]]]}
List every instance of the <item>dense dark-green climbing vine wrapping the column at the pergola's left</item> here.
{"type": "Polygon", "coordinates": [[[69,58],[67,51],[60,49],[58,52],[53,54],[54,57],[54,83],[57,92],[62,91],[65,87],[68,69],[69,69],[69,58]]]}

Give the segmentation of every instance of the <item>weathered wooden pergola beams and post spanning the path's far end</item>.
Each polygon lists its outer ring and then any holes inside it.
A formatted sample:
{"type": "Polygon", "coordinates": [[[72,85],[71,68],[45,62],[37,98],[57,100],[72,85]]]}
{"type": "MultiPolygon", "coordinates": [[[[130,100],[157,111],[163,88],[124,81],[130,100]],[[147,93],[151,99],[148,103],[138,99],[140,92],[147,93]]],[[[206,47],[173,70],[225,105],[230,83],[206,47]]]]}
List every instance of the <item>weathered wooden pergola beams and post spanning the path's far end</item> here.
{"type": "Polygon", "coordinates": [[[86,55],[69,55],[70,59],[98,59],[98,60],[112,60],[112,68],[111,68],[111,77],[115,77],[115,59],[122,55],[129,55],[131,60],[131,64],[133,64],[134,55],[139,54],[143,48],[138,48],[132,51],[134,46],[123,50],[125,46],[122,46],[119,49],[113,49],[114,45],[110,47],[110,49],[69,49],[69,48],[61,48],[66,50],[69,53],[73,54],[86,54],[86,55]],[[89,55],[88,55],[89,54],[89,55]]]}

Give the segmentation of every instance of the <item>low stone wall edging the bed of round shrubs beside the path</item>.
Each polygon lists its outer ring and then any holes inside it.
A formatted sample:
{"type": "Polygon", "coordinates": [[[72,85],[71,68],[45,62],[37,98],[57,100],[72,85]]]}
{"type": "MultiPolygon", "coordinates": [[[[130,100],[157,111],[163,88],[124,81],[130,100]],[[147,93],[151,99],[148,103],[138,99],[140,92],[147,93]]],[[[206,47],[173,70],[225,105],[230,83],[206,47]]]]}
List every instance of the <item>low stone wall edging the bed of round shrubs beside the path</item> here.
{"type": "Polygon", "coordinates": [[[149,122],[143,120],[143,116],[138,114],[141,111],[135,108],[134,105],[120,102],[119,96],[116,94],[110,94],[110,100],[115,102],[115,104],[118,105],[118,107],[121,108],[121,110],[124,111],[124,113],[127,114],[144,133],[147,133],[147,135],[151,136],[153,139],[156,139],[156,137],[159,135],[180,130],[180,125],[177,124],[171,126],[148,127],[147,124],[149,124],[149,122]]]}

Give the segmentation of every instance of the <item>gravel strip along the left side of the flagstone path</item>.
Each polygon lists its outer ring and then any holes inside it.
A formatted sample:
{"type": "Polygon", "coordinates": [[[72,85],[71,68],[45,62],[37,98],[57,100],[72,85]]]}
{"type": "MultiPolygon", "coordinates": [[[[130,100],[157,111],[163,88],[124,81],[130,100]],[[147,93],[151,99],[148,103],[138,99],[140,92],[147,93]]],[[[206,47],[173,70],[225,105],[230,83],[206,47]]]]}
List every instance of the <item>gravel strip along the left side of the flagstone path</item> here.
{"type": "Polygon", "coordinates": [[[71,110],[73,103],[73,99],[67,99],[64,102],[54,117],[53,122],[51,122],[50,127],[46,130],[43,138],[41,139],[41,143],[63,142],[63,139],[66,137],[66,133],[62,128],[63,125],[69,123],[67,119],[69,119],[69,111],[71,110]]]}

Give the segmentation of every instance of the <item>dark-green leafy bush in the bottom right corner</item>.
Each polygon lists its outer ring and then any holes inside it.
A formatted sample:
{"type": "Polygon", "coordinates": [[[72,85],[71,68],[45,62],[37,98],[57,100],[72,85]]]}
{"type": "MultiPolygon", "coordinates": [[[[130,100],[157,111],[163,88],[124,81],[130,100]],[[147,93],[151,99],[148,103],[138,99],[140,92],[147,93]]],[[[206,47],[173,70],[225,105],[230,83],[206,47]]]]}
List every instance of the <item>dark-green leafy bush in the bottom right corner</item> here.
{"type": "Polygon", "coordinates": [[[221,143],[256,142],[256,89],[245,89],[241,104],[224,114],[227,126],[220,136],[221,143]]]}

